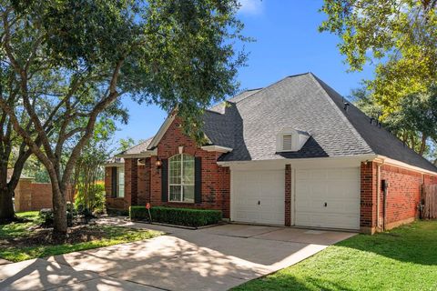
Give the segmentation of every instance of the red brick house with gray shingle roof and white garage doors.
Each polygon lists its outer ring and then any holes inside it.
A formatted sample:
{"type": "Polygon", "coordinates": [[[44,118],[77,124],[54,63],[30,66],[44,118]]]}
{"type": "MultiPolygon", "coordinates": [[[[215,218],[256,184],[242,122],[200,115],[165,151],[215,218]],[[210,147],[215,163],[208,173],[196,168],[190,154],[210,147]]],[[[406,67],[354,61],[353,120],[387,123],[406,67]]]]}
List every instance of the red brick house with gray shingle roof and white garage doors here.
{"type": "Polygon", "coordinates": [[[437,168],[312,74],[248,90],[203,116],[196,146],[173,115],[107,164],[107,207],[219,209],[230,221],[373,233],[414,220],[437,168]]]}

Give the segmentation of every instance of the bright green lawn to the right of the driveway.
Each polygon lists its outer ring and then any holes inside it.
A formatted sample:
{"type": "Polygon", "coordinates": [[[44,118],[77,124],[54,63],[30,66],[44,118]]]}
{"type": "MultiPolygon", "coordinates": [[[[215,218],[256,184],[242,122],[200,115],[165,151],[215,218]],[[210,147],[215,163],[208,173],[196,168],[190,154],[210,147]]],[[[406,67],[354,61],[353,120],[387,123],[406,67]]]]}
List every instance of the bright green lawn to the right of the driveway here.
{"type": "Polygon", "coordinates": [[[234,290],[437,290],[437,221],[353,236],[234,290]]]}

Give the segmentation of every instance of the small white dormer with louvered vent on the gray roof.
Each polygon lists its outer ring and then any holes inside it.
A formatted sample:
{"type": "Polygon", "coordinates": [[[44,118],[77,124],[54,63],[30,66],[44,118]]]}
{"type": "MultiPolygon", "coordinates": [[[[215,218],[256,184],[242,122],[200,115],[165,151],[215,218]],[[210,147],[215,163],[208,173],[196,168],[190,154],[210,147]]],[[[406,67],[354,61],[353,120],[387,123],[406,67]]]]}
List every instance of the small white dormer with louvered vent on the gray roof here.
{"type": "Polygon", "coordinates": [[[292,127],[284,127],[276,135],[277,152],[297,152],[310,138],[310,134],[292,127]]]}

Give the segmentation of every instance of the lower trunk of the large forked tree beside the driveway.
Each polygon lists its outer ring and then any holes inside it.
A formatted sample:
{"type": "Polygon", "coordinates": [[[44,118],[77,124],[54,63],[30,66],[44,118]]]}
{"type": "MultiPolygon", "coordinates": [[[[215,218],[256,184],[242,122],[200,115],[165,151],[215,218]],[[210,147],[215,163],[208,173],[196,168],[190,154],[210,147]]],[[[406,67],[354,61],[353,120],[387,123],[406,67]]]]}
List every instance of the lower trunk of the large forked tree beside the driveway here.
{"type": "Polygon", "coordinates": [[[52,180],[53,202],[53,232],[61,236],[66,235],[66,188],[64,191],[52,180]]]}

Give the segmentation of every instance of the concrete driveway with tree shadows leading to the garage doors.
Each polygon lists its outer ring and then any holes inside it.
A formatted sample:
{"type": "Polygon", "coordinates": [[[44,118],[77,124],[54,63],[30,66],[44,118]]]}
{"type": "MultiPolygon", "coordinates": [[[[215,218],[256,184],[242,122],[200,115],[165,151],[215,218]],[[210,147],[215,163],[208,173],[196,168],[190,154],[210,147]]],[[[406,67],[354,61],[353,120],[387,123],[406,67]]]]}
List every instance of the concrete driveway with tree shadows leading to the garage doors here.
{"type": "Polygon", "coordinates": [[[291,266],[353,233],[225,225],[0,266],[0,290],[227,290],[291,266]]]}

